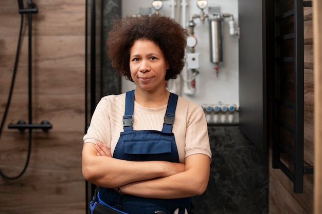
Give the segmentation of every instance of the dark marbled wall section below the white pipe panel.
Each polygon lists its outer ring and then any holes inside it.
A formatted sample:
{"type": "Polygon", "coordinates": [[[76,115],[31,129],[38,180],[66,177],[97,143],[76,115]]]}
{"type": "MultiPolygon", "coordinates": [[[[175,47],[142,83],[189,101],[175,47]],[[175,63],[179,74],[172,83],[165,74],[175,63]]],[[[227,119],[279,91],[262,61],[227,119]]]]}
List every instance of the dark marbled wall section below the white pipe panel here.
{"type": "Polygon", "coordinates": [[[209,125],[212,151],[208,188],[192,198],[194,214],[268,213],[268,157],[238,126],[209,125]]]}

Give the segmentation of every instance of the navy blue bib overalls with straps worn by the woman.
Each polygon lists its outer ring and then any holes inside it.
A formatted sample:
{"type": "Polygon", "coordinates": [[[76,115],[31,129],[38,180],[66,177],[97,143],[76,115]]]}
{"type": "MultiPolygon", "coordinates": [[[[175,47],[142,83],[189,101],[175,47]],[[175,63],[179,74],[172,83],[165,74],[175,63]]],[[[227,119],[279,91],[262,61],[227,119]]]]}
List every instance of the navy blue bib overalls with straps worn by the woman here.
{"type": "MultiPolygon", "coordinates": [[[[123,116],[124,131],[115,147],[113,158],[129,161],[179,162],[178,151],[172,133],[178,96],[170,93],[162,131],[133,130],[134,90],[126,93],[126,109],[123,116]]],[[[125,175],[126,176],[126,175],[125,175]]],[[[99,188],[98,202],[116,208],[120,213],[155,214],[163,211],[173,214],[190,210],[191,197],[182,199],[150,199],[119,194],[111,188],[99,188]]]]}

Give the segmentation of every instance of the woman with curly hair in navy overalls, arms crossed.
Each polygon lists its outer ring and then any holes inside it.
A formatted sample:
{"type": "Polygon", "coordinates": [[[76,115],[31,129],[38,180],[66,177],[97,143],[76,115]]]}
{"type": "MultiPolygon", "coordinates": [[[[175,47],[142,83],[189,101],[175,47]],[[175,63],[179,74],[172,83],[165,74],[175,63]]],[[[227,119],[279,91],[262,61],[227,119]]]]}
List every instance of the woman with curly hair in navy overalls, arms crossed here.
{"type": "Polygon", "coordinates": [[[114,21],[108,54],[136,89],[102,98],[83,138],[83,176],[99,186],[91,209],[185,213],[191,197],[206,190],[211,151],[204,112],[165,85],[185,64],[186,37],[165,16],[114,21]]]}

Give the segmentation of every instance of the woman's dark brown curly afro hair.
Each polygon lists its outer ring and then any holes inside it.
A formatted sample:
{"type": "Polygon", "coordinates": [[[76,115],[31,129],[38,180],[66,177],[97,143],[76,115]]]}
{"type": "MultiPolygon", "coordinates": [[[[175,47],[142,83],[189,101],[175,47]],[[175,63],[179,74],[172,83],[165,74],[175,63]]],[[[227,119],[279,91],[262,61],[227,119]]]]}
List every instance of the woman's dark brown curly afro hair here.
{"type": "Polygon", "coordinates": [[[176,79],[185,65],[187,30],[170,17],[158,14],[117,18],[107,40],[112,66],[133,82],[130,50],[137,40],[149,40],[160,48],[170,68],[165,80],[176,79]]]}

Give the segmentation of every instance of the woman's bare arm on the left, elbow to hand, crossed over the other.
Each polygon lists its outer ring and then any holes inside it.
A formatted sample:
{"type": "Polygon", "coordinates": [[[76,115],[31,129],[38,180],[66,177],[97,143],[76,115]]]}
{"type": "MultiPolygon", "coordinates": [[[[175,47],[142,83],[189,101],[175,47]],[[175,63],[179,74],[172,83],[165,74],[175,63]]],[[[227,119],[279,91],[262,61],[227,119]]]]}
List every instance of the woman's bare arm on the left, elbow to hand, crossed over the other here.
{"type": "Polygon", "coordinates": [[[184,164],[165,161],[125,161],[97,156],[95,144],[85,143],[82,153],[82,171],[87,181],[101,187],[114,188],[129,183],[167,177],[184,171],[184,164]]]}

